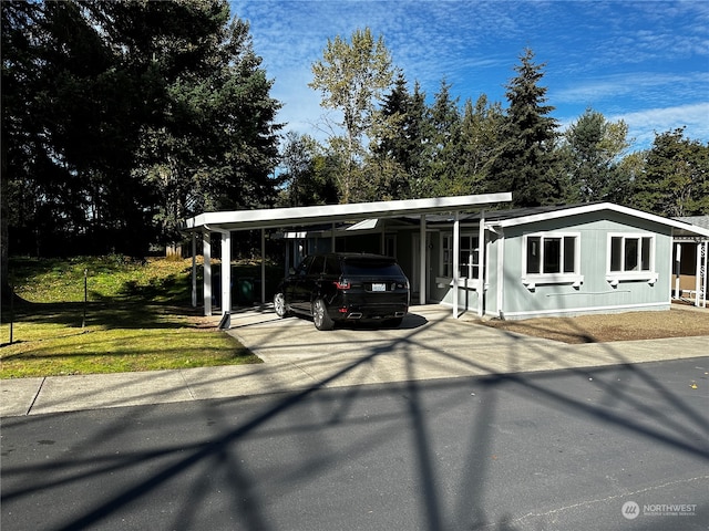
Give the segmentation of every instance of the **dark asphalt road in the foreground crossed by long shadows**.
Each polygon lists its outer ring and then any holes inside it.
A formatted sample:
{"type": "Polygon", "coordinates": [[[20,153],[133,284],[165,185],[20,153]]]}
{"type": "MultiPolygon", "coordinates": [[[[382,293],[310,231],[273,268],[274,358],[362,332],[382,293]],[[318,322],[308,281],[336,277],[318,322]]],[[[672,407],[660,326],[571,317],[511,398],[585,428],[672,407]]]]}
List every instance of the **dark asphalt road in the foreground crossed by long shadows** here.
{"type": "Polygon", "coordinates": [[[701,357],[6,418],[0,523],[706,530],[708,373],[701,357]]]}

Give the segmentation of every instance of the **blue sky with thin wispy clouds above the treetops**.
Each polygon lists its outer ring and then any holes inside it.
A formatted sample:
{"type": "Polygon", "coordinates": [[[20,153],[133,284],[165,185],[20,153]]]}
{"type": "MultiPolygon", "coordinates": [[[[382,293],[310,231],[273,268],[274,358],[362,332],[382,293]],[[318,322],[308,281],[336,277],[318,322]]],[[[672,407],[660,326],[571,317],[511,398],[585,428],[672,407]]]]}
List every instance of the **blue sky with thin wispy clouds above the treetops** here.
{"type": "Polygon", "coordinates": [[[430,100],[444,79],[461,104],[484,93],[506,107],[528,46],[563,126],[592,107],[628,124],[633,149],[680,126],[709,143],[709,2],[234,0],[232,10],[250,23],[286,131],[323,137],[310,66],[328,39],[370,28],[430,100]]]}

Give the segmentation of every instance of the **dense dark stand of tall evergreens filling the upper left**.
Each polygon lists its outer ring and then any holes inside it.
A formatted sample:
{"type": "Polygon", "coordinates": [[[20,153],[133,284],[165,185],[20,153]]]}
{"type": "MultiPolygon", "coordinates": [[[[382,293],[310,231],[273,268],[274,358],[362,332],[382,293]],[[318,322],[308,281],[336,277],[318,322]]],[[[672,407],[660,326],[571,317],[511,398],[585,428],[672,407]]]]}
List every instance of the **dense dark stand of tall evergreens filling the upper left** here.
{"type": "Polygon", "coordinates": [[[195,209],[273,201],[279,105],[225,0],[1,9],[3,257],[140,256],[195,209]]]}

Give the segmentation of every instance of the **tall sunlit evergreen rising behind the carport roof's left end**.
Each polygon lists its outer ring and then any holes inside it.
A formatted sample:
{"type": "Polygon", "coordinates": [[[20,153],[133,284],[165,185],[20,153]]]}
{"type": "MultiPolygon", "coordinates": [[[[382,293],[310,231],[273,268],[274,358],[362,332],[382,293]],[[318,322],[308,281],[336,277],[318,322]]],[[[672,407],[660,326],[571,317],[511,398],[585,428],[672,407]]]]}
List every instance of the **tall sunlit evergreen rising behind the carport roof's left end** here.
{"type": "MultiPolygon", "coordinates": [[[[223,13],[227,14],[227,13],[223,13]]],[[[280,104],[253,50],[249,27],[222,18],[204,60],[166,88],[168,110],[146,131],[142,178],[158,194],[165,237],[203,210],[270,206],[278,159],[275,124],[280,104]]]]}

